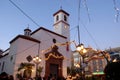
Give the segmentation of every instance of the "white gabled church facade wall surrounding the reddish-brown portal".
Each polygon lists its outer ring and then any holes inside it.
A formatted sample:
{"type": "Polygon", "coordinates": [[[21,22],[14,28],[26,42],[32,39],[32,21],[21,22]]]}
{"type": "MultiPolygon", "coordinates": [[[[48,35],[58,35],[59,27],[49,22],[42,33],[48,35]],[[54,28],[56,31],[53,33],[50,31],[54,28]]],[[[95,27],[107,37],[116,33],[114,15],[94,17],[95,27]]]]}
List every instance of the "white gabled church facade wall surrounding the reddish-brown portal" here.
{"type": "MultiPolygon", "coordinates": [[[[37,33],[32,35],[33,38],[40,40],[41,44],[40,44],[40,56],[42,57],[42,66],[44,67],[43,69],[43,75],[45,74],[45,56],[44,54],[47,52],[42,52],[43,50],[47,50],[48,48],[51,47],[51,45],[53,45],[53,39],[56,39],[56,44],[58,43],[65,43],[67,41],[66,38],[60,37],[58,35],[52,34],[50,32],[44,31],[44,30],[40,30],[37,33]]],[[[66,77],[67,76],[67,66],[71,65],[71,50],[70,51],[66,51],[66,46],[58,46],[59,49],[58,51],[65,57],[64,61],[63,61],[63,76],[66,77]]],[[[48,51],[49,52],[49,51],[48,51]]]]}

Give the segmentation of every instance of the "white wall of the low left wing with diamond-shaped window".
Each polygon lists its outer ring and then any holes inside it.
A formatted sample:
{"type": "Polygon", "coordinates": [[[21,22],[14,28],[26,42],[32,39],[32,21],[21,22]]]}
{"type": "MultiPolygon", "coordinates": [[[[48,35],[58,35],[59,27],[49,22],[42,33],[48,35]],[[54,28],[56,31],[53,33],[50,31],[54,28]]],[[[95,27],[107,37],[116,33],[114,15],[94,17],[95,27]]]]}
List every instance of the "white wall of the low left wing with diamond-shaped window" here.
{"type": "MultiPolygon", "coordinates": [[[[39,43],[22,39],[22,38],[17,39],[11,44],[10,54],[15,54],[16,56],[15,62],[14,62],[15,64],[14,70],[13,70],[14,76],[16,76],[16,74],[18,73],[18,68],[21,63],[24,63],[24,62],[28,63],[26,59],[27,56],[30,55],[31,57],[34,57],[38,54],[38,46],[39,46],[39,43]]],[[[33,62],[30,62],[30,63],[33,63],[33,62]]],[[[35,76],[34,70],[35,69],[33,69],[32,77],[35,76]]]]}

